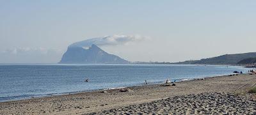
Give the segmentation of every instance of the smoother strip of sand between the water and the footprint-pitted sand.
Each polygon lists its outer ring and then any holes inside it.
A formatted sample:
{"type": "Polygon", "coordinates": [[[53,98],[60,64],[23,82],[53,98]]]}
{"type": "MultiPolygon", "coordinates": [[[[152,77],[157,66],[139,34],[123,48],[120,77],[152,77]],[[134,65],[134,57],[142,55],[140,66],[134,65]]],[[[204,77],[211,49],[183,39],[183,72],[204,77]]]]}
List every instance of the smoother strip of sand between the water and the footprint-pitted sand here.
{"type": "Polygon", "coordinates": [[[143,104],[174,96],[198,95],[200,93],[246,93],[248,88],[256,86],[256,75],[241,74],[228,77],[207,77],[205,80],[177,82],[176,86],[149,84],[127,87],[129,92],[118,89],[79,92],[70,95],[47,96],[1,102],[0,114],[86,114],[100,112],[117,107],[143,104]]]}

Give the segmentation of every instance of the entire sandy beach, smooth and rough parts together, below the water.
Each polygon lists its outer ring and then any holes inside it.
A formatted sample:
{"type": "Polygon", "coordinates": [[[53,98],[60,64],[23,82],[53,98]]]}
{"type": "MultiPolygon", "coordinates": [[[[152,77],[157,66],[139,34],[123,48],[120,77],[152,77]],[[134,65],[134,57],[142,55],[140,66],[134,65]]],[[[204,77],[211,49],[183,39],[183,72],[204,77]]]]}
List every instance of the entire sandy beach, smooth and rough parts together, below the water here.
{"type": "Polygon", "coordinates": [[[134,86],[0,103],[0,114],[256,114],[256,75],[134,86]]]}

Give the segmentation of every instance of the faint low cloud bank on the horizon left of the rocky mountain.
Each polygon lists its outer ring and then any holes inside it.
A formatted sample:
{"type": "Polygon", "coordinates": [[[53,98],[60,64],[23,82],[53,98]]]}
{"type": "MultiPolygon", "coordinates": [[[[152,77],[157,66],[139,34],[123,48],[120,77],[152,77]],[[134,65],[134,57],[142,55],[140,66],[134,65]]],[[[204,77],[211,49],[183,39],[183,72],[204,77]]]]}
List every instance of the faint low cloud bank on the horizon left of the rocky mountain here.
{"type": "Polygon", "coordinates": [[[0,63],[56,63],[63,50],[38,48],[13,48],[0,52],[0,63]]]}

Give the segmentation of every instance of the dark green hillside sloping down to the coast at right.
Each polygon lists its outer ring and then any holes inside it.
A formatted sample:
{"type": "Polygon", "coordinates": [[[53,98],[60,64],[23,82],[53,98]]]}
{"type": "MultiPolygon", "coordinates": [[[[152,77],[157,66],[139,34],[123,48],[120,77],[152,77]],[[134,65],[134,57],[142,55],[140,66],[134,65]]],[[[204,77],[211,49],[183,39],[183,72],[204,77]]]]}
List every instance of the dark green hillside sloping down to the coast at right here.
{"type": "Polygon", "coordinates": [[[173,64],[236,65],[239,61],[251,57],[256,57],[256,52],[244,54],[226,54],[218,57],[211,57],[195,61],[183,61],[173,64]]]}

